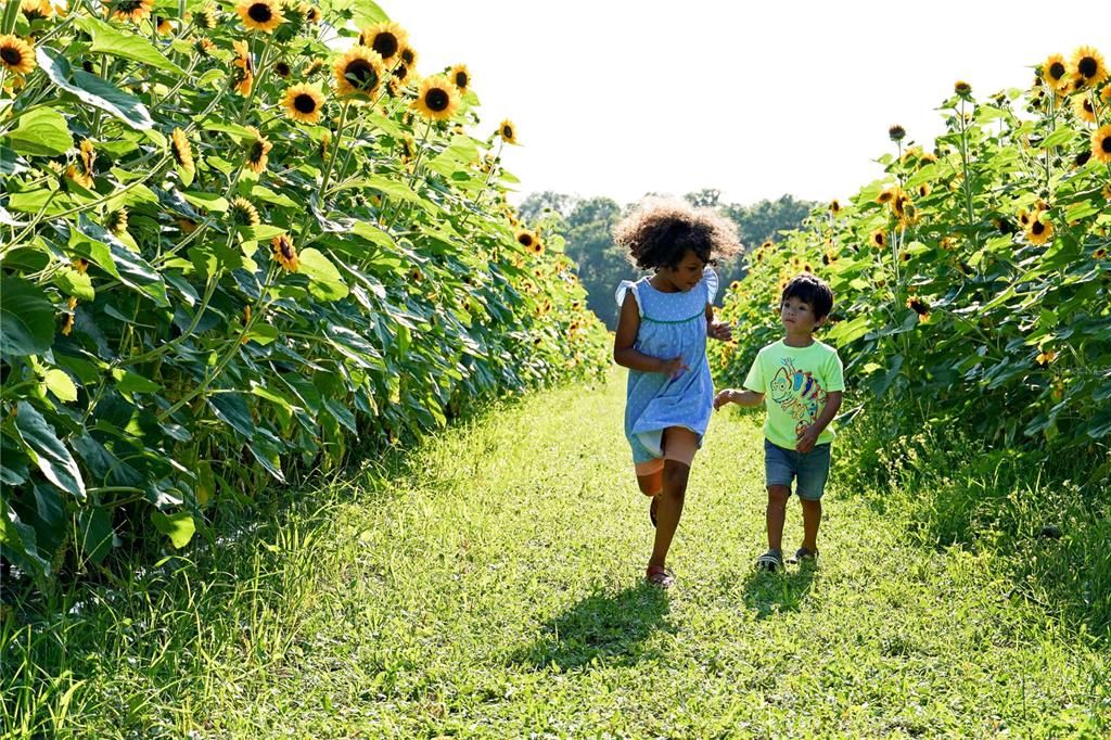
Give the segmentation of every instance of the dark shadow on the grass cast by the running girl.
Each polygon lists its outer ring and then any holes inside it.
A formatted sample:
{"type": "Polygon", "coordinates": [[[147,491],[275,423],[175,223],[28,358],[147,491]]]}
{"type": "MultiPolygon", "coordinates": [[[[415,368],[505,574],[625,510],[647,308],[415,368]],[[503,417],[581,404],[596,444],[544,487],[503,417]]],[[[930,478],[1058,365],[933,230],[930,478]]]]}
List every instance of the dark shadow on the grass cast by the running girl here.
{"type": "Polygon", "coordinates": [[[594,660],[631,664],[657,657],[643,642],[657,631],[673,632],[667,621],[668,594],[649,583],[618,593],[595,590],[543,627],[532,644],[510,656],[511,663],[570,670],[594,660]]]}

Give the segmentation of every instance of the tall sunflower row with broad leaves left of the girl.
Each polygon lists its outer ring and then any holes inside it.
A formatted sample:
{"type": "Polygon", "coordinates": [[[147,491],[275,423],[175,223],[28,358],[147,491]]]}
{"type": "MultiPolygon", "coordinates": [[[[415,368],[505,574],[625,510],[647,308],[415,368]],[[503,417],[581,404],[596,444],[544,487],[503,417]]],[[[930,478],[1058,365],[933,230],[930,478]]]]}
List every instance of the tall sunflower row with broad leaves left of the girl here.
{"type": "Polygon", "coordinates": [[[182,548],[356,441],[605,366],[561,243],[506,202],[512,122],[418,64],[368,0],[6,4],[7,563],[182,548]]]}

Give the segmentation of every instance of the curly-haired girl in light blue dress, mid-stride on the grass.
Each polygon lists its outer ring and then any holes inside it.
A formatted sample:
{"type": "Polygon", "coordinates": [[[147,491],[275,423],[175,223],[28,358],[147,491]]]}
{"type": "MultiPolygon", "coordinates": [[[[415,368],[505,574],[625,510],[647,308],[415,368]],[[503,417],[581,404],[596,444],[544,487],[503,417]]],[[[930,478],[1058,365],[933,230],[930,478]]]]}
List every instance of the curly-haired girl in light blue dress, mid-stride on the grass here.
{"type": "Polygon", "coordinates": [[[674,577],[664,561],[713,407],[705,340],[731,339],[729,326],[713,320],[718,276],[707,266],[740,244],[731,221],[670,201],[642,204],[618,224],[614,241],[637,267],[654,270],[618,287],[613,360],[629,368],[625,437],[640,490],[652,497],[655,544],[647,578],[668,588],[674,577]]]}

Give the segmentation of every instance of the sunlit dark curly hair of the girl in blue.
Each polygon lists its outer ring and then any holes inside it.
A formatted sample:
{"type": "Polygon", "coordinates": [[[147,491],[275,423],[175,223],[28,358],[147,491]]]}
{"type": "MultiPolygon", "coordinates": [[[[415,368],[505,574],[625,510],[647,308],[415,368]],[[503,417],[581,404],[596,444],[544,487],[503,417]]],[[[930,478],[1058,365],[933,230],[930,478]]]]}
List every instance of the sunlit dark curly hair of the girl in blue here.
{"type": "Polygon", "coordinates": [[[629,250],[629,261],[642,270],[674,268],[688,249],[708,263],[742,249],[732,221],[675,200],[643,201],[618,223],[613,240],[629,250]]]}

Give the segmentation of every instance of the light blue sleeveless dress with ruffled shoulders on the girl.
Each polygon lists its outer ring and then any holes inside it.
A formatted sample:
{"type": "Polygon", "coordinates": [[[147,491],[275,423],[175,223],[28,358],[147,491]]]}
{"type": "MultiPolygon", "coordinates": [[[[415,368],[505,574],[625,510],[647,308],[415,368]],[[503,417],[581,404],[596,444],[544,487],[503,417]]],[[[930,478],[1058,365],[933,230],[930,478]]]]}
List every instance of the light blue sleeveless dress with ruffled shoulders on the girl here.
{"type": "Polygon", "coordinates": [[[663,293],[647,277],[618,286],[620,307],[632,291],[640,311],[633,349],[670,360],[682,357],[689,370],[678,378],[662,372],[629,370],[625,393],[625,437],[633,463],[663,457],[660,443],[668,427],[685,427],[702,436],[713,412],[713,380],[705,359],[705,307],[718,293],[718,274],[705,268],[702,280],[685,292],[663,293]]]}

